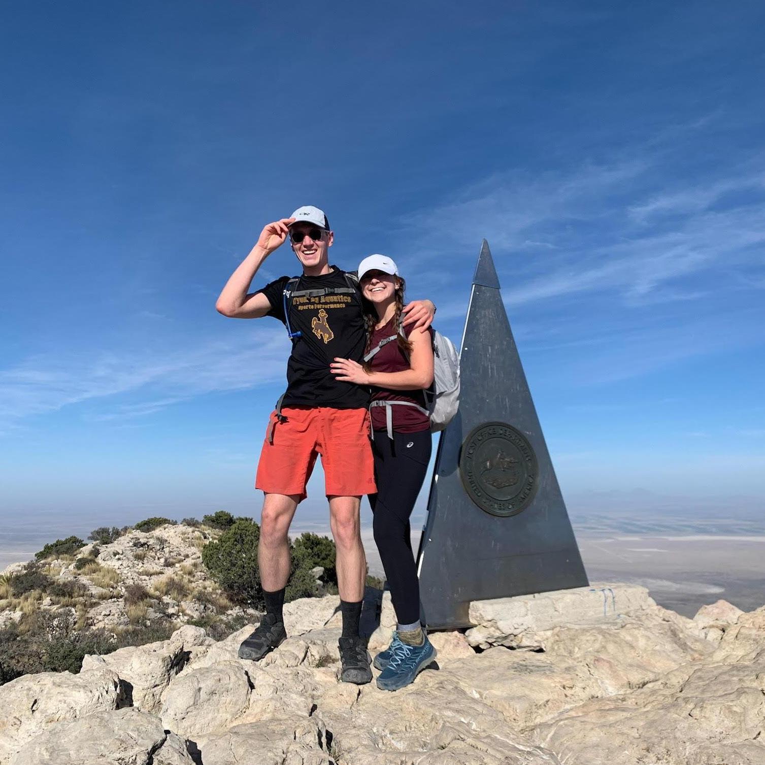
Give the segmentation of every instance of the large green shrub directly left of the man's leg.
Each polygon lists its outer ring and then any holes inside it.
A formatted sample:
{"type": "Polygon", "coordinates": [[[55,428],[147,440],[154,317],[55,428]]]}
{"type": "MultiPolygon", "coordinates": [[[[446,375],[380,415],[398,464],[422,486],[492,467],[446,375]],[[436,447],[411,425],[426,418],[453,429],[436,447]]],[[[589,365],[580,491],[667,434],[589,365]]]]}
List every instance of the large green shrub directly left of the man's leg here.
{"type": "Polygon", "coordinates": [[[210,576],[235,602],[262,607],[263,588],[258,568],[260,526],[254,521],[233,522],[217,542],[202,549],[202,562],[210,576]]]}

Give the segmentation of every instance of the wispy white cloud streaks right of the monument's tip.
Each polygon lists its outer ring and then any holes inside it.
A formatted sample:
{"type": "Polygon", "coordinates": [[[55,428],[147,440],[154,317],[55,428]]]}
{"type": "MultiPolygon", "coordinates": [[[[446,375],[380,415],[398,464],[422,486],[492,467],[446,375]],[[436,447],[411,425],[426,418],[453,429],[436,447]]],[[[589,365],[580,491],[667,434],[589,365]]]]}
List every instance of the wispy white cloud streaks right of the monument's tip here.
{"type": "MultiPolygon", "coordinates": [[[[696,276],[758,262],[765,161],[750,159],[724,177],[683,185],[668,182],[658,150],[631,153],[627,161],[536,177],[496,174],[406,217],[403,235],[418,251],[415,274],[426,278],[435,258],[477,249],[485,236],[508,305],[594,291],[630,305],[698,300],[719,285],[699,285],[696,276]]],[[[760,274],[737,279],[753,288],[760,280],[760,274]]]]}

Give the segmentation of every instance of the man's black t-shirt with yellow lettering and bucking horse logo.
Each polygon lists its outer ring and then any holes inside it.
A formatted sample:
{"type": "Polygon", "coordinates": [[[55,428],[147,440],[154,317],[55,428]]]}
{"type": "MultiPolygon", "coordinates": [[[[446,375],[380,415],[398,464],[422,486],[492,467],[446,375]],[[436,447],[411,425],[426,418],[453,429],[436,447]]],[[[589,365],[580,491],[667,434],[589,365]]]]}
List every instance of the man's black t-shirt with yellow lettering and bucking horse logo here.
{"type": "MultiPolygon", "coordinates": [[[[301,276],[291,291],[321,288],[347,289],[354,282],[345,272],[332,266],[323,276],[301,276]]],[[[285,285],[291,277],[282,276],[258,290],[269,298],[268,315],[285,322],[285,285]]],[[[366,345],[361,293],[295,295],[287,301],[289,324],[301,337],[292,343],[287,362],[287,392],[282,406],[331,406],[335,409],[357,409],[369,405],[369,389],[353,382],[338,382],[330,371],[335,356],[362,360],[366,345]]]]}

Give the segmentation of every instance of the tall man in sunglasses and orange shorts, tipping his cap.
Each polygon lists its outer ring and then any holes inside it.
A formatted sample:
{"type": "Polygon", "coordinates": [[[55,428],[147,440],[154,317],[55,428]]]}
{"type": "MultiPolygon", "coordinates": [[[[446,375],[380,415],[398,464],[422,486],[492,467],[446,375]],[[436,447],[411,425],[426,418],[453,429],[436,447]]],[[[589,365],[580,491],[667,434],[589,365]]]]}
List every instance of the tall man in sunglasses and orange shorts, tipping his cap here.
{"type": "MultiPolygon", "coordinates": [[[[355,274],[329,263],[333,242],[327,216],[317,207],[300,207],[291,217],[269,223],[216,303],[224,316],[278,318],[292,340],[287,391],[270,417],[255,484],[265,493],[258,562],[266,614],[239,647],[239,656],[262,659],[287,636],[282,607],[290,571],[288,531],[321,454],[343,615],[340,679],[363,684],[372,672],[359,636],[366,579],[359,509],[361,496],[376,491],[369,392],[338,382],[330,363],[338,357],[361,361],[366,330],[355,274]],[[260,266],[287,237],[303,267],[301,277],[283,276],[248,293],[260,266]]],[[[405,311],[405,324],[427,327],[435,308],[430,301],[415,301],[405,311]]]]}

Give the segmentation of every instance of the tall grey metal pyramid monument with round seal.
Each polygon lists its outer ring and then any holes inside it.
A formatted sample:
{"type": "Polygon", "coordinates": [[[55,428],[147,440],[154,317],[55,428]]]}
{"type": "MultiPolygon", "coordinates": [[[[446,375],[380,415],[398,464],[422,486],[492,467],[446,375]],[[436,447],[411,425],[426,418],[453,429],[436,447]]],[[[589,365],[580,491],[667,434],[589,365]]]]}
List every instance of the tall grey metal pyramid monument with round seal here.
{"type": "Polygon", "coordinates": [[[423,620],[469,627],[470,601],[588,585],[483,240],[420,541],[423,620]]]}

